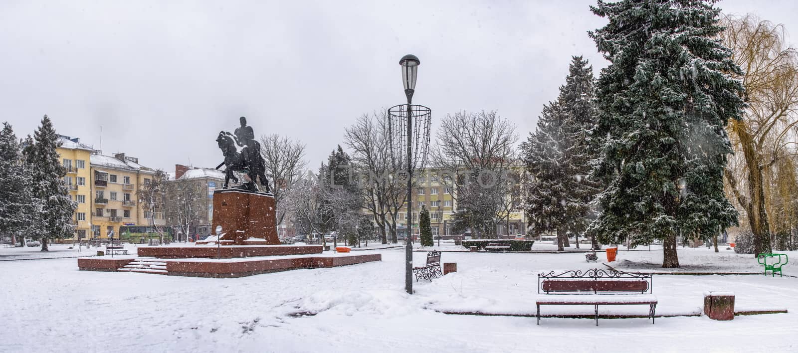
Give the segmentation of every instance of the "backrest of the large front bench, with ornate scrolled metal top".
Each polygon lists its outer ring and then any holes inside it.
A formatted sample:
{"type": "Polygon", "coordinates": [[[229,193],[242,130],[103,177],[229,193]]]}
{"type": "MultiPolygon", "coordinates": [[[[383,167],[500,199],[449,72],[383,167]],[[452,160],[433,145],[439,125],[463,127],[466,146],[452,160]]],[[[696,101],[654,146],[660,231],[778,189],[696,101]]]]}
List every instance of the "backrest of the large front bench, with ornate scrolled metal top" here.
{"type": "Polygon", "coordinates": [[[652,275],[606,271],[599,268],[538,274],[538,293],[545,294],[645,294],[652,292],[652,275]]]}

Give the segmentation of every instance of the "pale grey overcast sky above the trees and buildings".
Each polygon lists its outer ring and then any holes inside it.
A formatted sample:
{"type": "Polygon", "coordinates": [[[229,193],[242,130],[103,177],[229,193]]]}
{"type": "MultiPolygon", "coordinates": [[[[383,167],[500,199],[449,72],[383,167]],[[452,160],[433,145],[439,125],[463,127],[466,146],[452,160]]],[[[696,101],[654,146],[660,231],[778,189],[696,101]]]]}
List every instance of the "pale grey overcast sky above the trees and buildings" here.
{"type": "MultiPolygon", "coordinates": [[[[525,139],[571,55],[606,65],[587,37],[605,24],[594,3],[2,0],[0,121],[22,137],[48,114],[104,154],[173,171],[219,164],[216,135],[246,116],[256,135],[302,141],[316,168],[361,114],[405,102],[398,61],[415,54],[413,103],[433,128],[496,110],[525,139]]],[[[798,2],[718,6],[798,30],[798,2]]]]}

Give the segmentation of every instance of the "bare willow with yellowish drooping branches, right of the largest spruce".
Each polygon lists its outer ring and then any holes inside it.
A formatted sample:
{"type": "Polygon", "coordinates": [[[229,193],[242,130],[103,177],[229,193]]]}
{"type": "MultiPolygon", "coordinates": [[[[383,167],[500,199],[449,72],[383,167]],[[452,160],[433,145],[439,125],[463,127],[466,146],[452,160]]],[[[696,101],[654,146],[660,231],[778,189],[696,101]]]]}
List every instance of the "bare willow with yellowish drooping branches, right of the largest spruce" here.
{"type": "Polygon", "coordinates": [[[772,251],[765,184],[768,173],[794,144],[790,132],[798,120],[798,52],[784,42],[784,26],[753,15],[725,16],[720,38],[733,50],[741,73],[732,73],[745,87],[747,108],[741,120],[726,129],[737,168],[725,170],[725,180],[754,236],[754,254],[772,251]]]}

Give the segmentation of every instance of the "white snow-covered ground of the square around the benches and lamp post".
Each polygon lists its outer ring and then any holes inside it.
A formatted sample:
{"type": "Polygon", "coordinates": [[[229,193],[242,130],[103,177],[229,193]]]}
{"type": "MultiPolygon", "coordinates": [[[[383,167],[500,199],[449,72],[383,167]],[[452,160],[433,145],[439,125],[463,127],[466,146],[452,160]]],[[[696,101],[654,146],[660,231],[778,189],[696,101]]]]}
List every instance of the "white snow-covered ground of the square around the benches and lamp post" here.
{"type": "MultiPolygon", "coordinates": [[[[438,311],[534,315],[537,273],[603,265],[587,264],[581,253],[444,252],[441,260],[456,262],[458,272],[419,282],[407,295],[403,249],[379,252],[378,263],[237,279],[81,272],[75,259],[2,261],[0,351],[798,351],[792,277],[654,276],[660,314],[700,312],[710,290],[735,292],[738,310],[788,314],[726,322],[666,317],[654,325],[602,319],[599,327],[591,319],[544,318],[537,326],[533,317],[438,311]]],[[[684,248],[679,255],[688,268],[758,271],[749,266],[752,256],[730,251],[684,248]]],[[[424,260],[424,252],[414,254],[416,264],[424,260]]],[[[660,260],[660,251],[620,252],[612,264],[660,260]]],[[[798,275],[798,267],[788,264],[784,273],[798,275]]]]}

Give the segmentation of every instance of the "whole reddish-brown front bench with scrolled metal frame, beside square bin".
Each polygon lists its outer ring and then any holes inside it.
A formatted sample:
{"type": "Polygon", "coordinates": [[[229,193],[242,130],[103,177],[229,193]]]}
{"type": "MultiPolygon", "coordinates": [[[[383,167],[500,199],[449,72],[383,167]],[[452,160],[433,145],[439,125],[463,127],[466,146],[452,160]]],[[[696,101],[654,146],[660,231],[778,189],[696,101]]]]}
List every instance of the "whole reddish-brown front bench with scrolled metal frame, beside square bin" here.
{"type": "Polygon", "coordinates": [[[654,323],[657,297],[651,295],[652,275],[640,272],[606,271],[594,268],[538,274],[536,302],[538,324],[541,305],[593,305],[599,326],[599,305],[648,305],[648,317],[654,323]]]}

